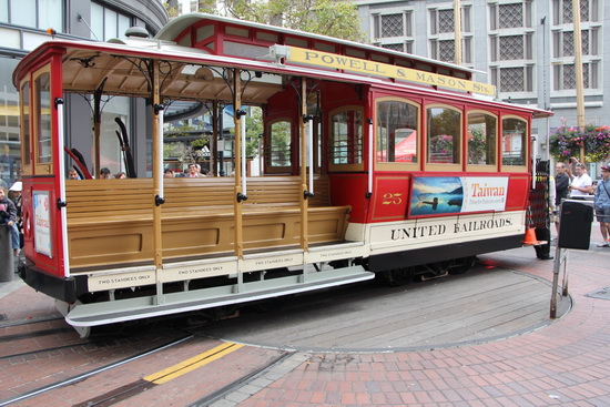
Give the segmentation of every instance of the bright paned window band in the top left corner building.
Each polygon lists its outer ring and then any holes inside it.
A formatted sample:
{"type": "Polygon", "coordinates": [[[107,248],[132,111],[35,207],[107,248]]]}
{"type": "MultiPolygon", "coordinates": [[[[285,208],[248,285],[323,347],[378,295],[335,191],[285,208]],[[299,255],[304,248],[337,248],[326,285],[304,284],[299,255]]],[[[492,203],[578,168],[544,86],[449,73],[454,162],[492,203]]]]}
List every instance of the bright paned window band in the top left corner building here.
{"type": "Polygon", "coordinates": [[[0,22],[63,32],[63,0],[0,1],[0,22]]]}

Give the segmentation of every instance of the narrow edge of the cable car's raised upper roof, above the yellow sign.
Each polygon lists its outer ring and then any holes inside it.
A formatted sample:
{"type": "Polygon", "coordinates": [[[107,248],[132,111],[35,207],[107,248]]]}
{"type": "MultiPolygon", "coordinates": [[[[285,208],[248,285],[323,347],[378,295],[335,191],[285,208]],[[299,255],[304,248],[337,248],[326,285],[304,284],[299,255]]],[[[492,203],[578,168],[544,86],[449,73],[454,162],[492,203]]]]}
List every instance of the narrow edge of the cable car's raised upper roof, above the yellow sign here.
{"type": "Polygon", "coordinates": [[[415,55],[413,53],[394,51],[394,50],[389,50],[389,49],[382,48],[382,47],[376,47],[376,45],[370,45],[370,44],[363,44],[363,43],[359,43],[359,42],[342,40],[342,39],[334,38],[334,37],[328,37],[328,35],[314,34],[312,32],[305,32],[305,31],[293,30],[293,29],[287,29],[287,28],[283,28],[283,27],[277,27],[277,26],[268,26],[268,24],[263,24],[263,23],[254,22],[254,21],[238,20],[238,19],[234,19],[234,18],[230,18],[230,17],[222,17],[222,16],[214,16],[214,14],[206,14],[206,13],[190,13],[190,14],[183,14],[181,17],[177,17],[177,18],[173,19],[172,21],[170,21],[165,27],[163,27],[161,29],[161,31],[159,31],[156,33],[155,39],[174,41],[175,38],[181,32],[183,32],[186,28],[189,28],[190,26],[193,26],[194,23],[196,23],[199,21],[203,21],[203,20],[218,21],[218,22],[224,22],[224,23],[237,24],[237,26],[242,26],[242,27],[250,27],[250,28],[256,28],[256,29],[262,29],[262,30],[282,32],[282,33],[285,33],[285,34],[305,37],[305,38],[309,38],[309,39],[313,39],[313,40],[322,40],[322,41],[338,43],[338,44],[348,45],[348,47],[353,47],[353,48],[358,48],[358,49],[366,50],[366,51],[374,51],[374,52],[386,54],[386,55],[409,58],[409,59],[415,60],[415,61],[431,63],[431,64],[436,64],[436,65],[439,65],[439,67],[444,67],[444,68],[448,68],[448,69],[453,69],[453,70],[457,70],[457,71],[487,74],[487,72],[480,71],[480,70],[477,70],[477,69],[460,67],[460,65],[456,65],[456,64],[449,63],[449,62],[437,61],[437,60],[434,60],[431,58],[419,57],[419,55],[415,55]]]}

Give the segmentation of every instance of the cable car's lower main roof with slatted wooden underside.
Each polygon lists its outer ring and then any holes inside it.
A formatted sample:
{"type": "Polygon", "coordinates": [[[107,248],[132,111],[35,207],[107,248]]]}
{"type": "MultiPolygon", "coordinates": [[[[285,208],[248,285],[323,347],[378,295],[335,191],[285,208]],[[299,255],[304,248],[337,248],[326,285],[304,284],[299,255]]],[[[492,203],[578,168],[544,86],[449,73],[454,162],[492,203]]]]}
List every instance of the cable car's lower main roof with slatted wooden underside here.
{"type": "MultiPolygon", "coordinates": [[[[141,64],[145,61],[159,60],[166,63],[163,69],[169,70],[165,72],[161,94],[175,101],[217,100],[231,103],[233,98],[231,89],[227,87],[227,78],[222,77],[224,68],[242,69],[245,79],[256,84],[246,87],[242,96],[243,102],[250,104],[266,103],[268,98],[284,87],[288,77],[307,77],[369,84],[390,90],[429,92],[438,96],[451,98],[456,102],[481,100],[481,96],[469,93],[444,91],[407,82],[390,82],[387,79],[366,77],[348,71],[214,55],[201,49],[181,47],[175,42],[160,39],[128,39],[113,42],[48,41],[20,61],[13,72],[16,88],[20,88],[21,79],[29,71],[39,69],[45,58],[58,52],[61,53],[63,61],[63,90],[67,92],[91,93],[103,82],[104,93],[149,98],[150,84],[145,74],[142,73],[148,68],[141,64]]],[[[244,77],[242,79],[244,80],[244,77]]],[[[533,118],[552,114],[535,106],[504,103],[491,98],[482,98],[482,100],[488,105],[527,112],[533,118]]]]}

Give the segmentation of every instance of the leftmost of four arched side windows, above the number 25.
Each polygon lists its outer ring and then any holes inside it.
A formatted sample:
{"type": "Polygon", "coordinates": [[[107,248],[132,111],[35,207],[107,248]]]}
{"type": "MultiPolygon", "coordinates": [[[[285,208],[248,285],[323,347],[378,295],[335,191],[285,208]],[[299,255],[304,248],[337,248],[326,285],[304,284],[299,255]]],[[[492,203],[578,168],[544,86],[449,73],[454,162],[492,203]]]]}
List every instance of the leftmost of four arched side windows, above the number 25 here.
{"type": "Polygon", "coordinates": [[[400,101],[377,103],[377,162],[416,163],[419,109],[400,101]]]}

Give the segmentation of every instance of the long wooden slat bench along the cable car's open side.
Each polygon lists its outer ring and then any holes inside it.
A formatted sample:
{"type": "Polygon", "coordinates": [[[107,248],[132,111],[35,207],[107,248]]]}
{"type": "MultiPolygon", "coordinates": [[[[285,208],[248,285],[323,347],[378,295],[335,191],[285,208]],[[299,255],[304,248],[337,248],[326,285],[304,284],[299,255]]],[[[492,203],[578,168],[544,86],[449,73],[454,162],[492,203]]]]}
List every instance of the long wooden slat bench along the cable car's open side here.
{"type": "MultiPolygon", "coordinates": [[[[164,180],[163,257],[201,257],[234,250],[235,180],[164,180]]],[[[311,201],[311,243],[344,238],[349,206],[328,206],[328,181],[311,201]]],[[[67,181],[70,264],[78,271],[152,262],[153,183],[150,179],[67,181]]],[[[248,179],[243,203],[244,248],[297,245],[301,180],[248,179]]]]}

